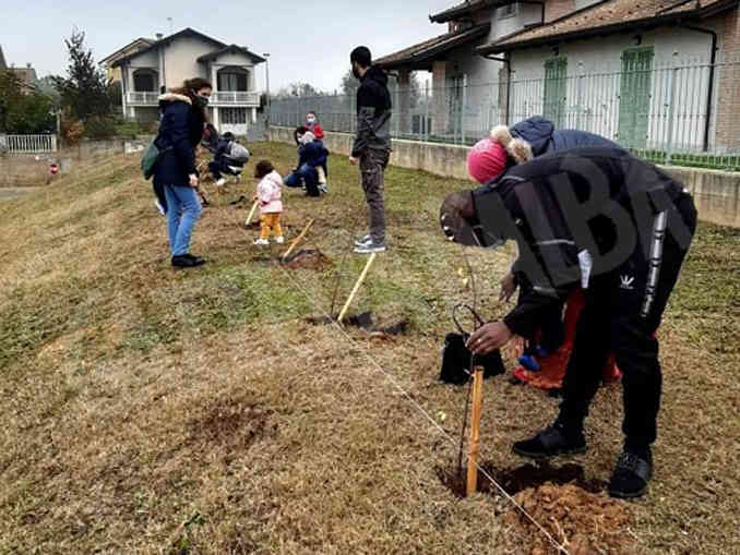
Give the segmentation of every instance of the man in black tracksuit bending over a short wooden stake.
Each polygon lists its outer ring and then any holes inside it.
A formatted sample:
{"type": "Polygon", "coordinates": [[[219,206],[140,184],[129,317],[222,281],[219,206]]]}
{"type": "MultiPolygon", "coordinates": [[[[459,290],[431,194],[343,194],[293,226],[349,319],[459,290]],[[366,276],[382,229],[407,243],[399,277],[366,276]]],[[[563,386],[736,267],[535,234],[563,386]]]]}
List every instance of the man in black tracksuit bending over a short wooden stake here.
{"type": "Polygon", "coordinates": [[[503,347],[514,335],[530,336],[542,314],[587,282],[560,414],[513,450],[534,459],[585,451],[584,420],[613,351],[624,374],[625,439],[609,494],[642,496],[653,473],[651,446],[660,405],[654,333],[694,234],[691,195],[625,150],[575,148],[513,167],[474,191],[454,193],[440,218],[447,238],[463,244],[516,241],[520,269],[532,283],[503,321],[470,337],[468,347],[476,354],[503,347]]]}

